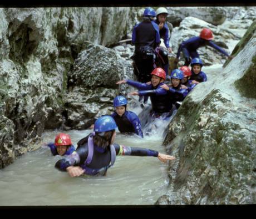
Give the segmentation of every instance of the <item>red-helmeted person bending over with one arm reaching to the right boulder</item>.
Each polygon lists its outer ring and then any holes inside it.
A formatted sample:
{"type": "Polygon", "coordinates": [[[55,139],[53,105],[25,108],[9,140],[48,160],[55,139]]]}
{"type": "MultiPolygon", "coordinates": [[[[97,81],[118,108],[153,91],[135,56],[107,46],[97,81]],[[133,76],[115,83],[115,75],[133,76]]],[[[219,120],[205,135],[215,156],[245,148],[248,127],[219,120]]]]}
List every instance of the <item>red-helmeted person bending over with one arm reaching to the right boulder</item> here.
{"type": "Polygon", "coordinates": [[[225,50],[221,49],[218,45],[216,45],[213,41],[213,32],[208,28],[203,28],[200,32],[199,37],[192,37],[188,40],[183,41],[178,49],[178,52],[176,54],[175,62],[179,62],[179,57],[181,51],[183,52],[183,55],[185,57],[185,64],[186,66],[189,66],[191,59],[199,58],[199,54],[196,51],[199,47],[204,47],[206,45],[209,45],[210,47],[213,47],[214,49],[218,50],[219,52],[226,55],[229,59],[232,59],[233,56],[229,55],[225,50]]]}

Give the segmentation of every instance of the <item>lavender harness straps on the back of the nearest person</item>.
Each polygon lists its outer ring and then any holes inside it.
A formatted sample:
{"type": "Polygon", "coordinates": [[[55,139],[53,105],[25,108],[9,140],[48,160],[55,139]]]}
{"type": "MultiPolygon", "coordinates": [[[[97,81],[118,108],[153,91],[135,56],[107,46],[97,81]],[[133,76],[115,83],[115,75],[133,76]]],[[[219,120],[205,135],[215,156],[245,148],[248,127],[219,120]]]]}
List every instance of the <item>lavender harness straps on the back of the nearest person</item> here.
{"type": "Polygon", "coordinates": [[[90,165],[90,163],[92,161],[92,157],[93,157],[93,138],[92,138],[92,136],[94,136],[94,135],[95,134],[92,133],[92,135],[90,135],[88,137],[88,156],[87,156],[85,162],[83,163],[82,168],[85,169],[85,174],[88,174],[88,175],[96,175],[98,173],[105,175],[107,169],[109,169],[109,167],[113,166],[116,161],[116,150],[115,150],[114,145],[110,145],[110,152],[111,152],[110,165],[102,167],[101,169],[92,169],[90,167],[87,167],[88,165],[90,165]]]}

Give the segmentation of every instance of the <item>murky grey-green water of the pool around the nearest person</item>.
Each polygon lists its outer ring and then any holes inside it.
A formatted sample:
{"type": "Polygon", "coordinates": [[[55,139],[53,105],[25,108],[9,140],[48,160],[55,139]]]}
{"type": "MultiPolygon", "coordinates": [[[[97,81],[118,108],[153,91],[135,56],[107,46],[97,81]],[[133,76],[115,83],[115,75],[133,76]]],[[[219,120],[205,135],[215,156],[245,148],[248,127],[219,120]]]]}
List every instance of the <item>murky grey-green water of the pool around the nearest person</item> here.
{"type": "MultiPolygon", "coordinates": [[[[47,131],[43,142],[53,141],[58,131],[47,131]]],[[[90,133],[72,130],[73,144],[90,133]]],[[[116,142],[164,152],[161,136],[117,135],[116,142]]],[[[167,164],[156,157],[117,156],[107,176],[71,178],[55,169],[60,156],[48,147],[19,157],[0,170],[0,206],[26,205],[153,205],[168,185],[167,164]]]]}

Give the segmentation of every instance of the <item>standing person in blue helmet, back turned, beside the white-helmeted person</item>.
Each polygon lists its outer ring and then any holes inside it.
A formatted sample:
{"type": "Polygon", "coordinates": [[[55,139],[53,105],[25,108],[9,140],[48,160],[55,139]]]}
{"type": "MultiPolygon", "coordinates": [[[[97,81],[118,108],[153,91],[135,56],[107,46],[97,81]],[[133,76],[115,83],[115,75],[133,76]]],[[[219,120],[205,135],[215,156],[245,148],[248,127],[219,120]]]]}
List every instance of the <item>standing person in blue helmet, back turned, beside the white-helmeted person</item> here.
{"type": "MultiPolygon", "coordinates": [[[[153,21],[156,16],[155,10],[146,8],[143,13],[143,21],[137,24],[132,30],[132,44],[135,45],[134,73],[141,83],[151,80],[150,73],[154,69],[154,50],[160,44],[159,27],[153,21]]],[[[140,101],[143,96],[140,96],[140,101]]],[[[144,96],[144,103],[148,96],[144,96]]]]}

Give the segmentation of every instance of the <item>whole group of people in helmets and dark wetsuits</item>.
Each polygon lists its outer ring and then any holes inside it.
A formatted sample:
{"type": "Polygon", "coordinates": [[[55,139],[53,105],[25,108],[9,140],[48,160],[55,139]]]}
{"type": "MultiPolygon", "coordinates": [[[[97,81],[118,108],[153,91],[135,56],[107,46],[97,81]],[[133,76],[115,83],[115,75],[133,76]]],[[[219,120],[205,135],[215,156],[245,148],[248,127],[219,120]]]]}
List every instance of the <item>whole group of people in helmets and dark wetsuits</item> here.
{"type": "MultiPolygon", "coordinates": [[[[203,28],[199,37],[190,38],[179,45],[175,62],[179,62],[180,53],[183,52],[185,63],[180,69],[171,72],[171,84],[168,84],[168,54],[159,47],[160,38],[163,38],[167,51],[172,53],[169,45],[170,31],[165,22],[167,16],[168,11],[163,7],[156,11],[150,7],[145,9],[143,21],[136,24],[132,31],[135,52],[131,58],[134,60],[134,73],[138,81],[125,79],[116,83],[127,83],[137,88],[138,90],[132,91],[130,95],[139,95],[139,100],[144,99],[144,103],[150,98],[152,118],[161,115],[170,116],[172,109],[179,108],[179,101],[183,101],[196,84],[207,80],[206,74],[201,70],[203,62],[196,49],[209,45],[228,58],[233,58],[213,43],[211,30],[203,28]],[[161,61],[160,67],[156,65],[156,59],[161,61]]],[[[72,145],[70,136],[63,133],[56,136],[55,143],[48,144],[53,155],[65,155],[55,164],[58,170],[67,171],[71,177],[82,174],[106,175],[107,169],[114,165],[118,155],[154,156],[163,162],[175,159],[174,156],[161,154],[155,150],[115,144],[117,128],[121,133],[144,136],[139,117],[126,109],[125,96],[116,96],[113,104],[115,112],[97,119],[93,132],[78,141],[76,149],[72,145]]]]}

